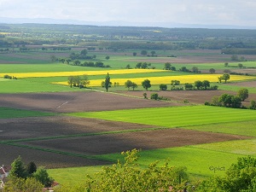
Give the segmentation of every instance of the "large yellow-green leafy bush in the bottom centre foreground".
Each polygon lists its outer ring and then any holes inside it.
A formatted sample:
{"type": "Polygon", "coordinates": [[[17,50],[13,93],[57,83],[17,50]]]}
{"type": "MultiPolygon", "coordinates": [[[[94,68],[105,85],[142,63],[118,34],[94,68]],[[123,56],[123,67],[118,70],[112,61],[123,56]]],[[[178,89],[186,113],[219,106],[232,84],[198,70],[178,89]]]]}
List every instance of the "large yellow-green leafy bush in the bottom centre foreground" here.
{"type": "Polygon", "coordinates": [[[193,191],[185,167],[172,167],[168,163],[158,166],[158,162],[155,162],[142,169],[136,164],[137,149],[122,154],[125,155],[124,163],[119,160],[113,166],[102,167],[96,179],[87,177],[84,186],[79,185],[75,189],[62,187],[55,191],[193,191]]]}

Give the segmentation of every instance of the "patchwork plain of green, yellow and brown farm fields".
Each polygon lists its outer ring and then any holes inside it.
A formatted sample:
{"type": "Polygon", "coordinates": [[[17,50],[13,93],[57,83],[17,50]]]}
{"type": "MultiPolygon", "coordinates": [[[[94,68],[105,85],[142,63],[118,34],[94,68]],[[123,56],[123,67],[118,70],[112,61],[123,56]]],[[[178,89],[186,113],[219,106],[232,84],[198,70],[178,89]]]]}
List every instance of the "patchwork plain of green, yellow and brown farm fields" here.
{"type": "Polygon", "coordinates": [[[220,49],[199,48],[148,48],[143,55],[143,49],[103,49],[111,45],[105,41],[26,44],[25,51],[15,47],[0,53],[0,163],[10,165],[20,155],[71,186],[123,160],[120,153],[133,148],[142,149],[140,166],[167,160],[185,166],[193,181],[224,176],[239,157],[256,158],[256,110],[249,109],[256,101],[256,55],[232,61],[220,49]],[[96,56],[61,61],[84,49],[96,56]],[[105,67],[86,66],[90,61],[105,67]],[[224,74],[229,79],[219,81],[224,74]],[[86,77],[89,83],[79,86],[71,77],[86,77]],[[143,87],[145,79],[150,86],[143,87]],[[127,80],[137,86],[127,86],[127,80]],[[175,80],[179,83],[172,84],[175,80]],[[196,81],[216,89],[196,88],[196,81]],[[205,105],[241,89],[248,90],[241,108],[205,105]]]}

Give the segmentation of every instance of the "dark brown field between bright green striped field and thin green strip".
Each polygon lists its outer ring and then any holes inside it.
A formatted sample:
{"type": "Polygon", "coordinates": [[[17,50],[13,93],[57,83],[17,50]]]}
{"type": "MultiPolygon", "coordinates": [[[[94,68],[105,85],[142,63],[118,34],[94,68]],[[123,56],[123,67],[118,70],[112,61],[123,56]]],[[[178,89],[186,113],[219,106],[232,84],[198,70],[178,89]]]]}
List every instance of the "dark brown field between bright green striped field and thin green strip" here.
{"type": "Polygon", "coordinates": [[[35,137],[61,137],[152,127],[154,126],[66,116],[0,119],[0,141],[35,137]]]}

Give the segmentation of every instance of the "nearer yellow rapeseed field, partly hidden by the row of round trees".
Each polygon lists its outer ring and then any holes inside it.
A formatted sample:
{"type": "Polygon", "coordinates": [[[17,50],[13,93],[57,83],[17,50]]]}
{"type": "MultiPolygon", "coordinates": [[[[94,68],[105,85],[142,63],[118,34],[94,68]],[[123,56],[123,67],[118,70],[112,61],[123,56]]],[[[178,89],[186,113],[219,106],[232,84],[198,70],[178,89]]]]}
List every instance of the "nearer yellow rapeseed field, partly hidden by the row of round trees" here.
{"type": "MultiPolygon", "coordinates": [[[[149,79],[151,84],[171,84],[172,80],[179,80],[181,84],[189,83],[193,84],[196,80],[208,80],[210,82],[218,82],[218,77],[220,74],[197,74],[197,75],[179,75],[179,76],[165,76],[165,77],[148,77],[148,78],[134,78],[129,79],[132,82],[140,85],[144,79],[149,79]]],[[[237,80],[247,80],[255,79],[255,77],[242,76],[242,75],[230,75],[229,81],[237,80]]],[[[90,80],[90,86],[101,86],[104,79],[90,80]]],[[[119,85],[124,85],[128,79],[111,79],[111,82],[119,83],[119,85]]],[[[67,85],[67,82],[55,82],[54,84],[64,84],[67,85]]]]}

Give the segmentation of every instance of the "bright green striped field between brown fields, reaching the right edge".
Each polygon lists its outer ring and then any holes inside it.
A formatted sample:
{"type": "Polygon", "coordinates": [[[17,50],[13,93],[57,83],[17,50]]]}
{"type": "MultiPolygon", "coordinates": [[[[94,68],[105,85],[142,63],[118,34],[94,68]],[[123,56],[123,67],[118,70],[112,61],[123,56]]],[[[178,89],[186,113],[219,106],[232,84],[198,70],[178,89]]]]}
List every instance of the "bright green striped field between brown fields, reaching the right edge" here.
{"type": "Polygon", "coordinates": [[[187,106],[172,108],[142,108],[91,113],[69,113],[68,115],[164,127],[183,127],[188,125],[208,125],[221,122],[228,123],[253,120],[255,119],[256,111],[209,106],[187,106]]]}

